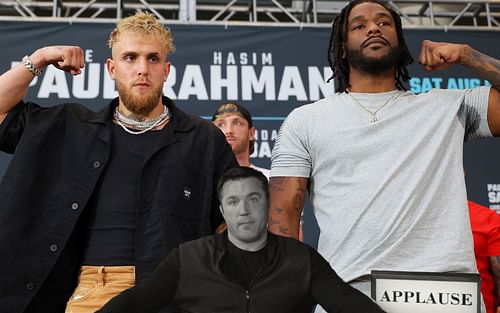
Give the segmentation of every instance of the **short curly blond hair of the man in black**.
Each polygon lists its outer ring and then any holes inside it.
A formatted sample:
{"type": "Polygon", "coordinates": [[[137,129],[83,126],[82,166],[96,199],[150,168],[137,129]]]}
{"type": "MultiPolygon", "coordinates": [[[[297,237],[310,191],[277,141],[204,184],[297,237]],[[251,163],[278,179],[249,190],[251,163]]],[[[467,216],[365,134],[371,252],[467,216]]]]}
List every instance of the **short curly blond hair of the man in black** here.
{"type": "Polygon", "coordinates": [[[163,27],[151,13],[137,12],[116,23],[116,27],[109,35],[108,47],[113,49],[113,45],[120,39],[120,35],[125,32],[132,32],[162,41],[167,49],[167,54],[175,51],[174,39],[170,29],[163,27]]]}

